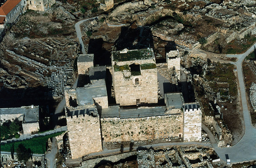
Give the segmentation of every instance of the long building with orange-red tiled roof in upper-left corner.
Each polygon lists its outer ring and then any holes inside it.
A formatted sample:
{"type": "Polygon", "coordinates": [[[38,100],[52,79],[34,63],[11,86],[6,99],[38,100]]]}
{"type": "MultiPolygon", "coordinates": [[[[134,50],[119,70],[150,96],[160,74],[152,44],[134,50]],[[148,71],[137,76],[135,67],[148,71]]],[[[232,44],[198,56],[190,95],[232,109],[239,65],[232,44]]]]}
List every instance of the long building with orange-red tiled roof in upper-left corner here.
{"type": "Polygon", "coordinates": [[[7,0],[0,7],[0,28],[6,28],[7,23],[13,24],[16,21],[22,14],[24,3],[22,0],[7,0]]]}

